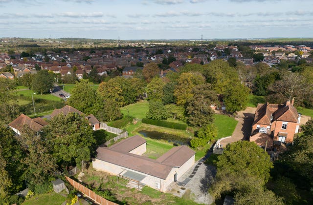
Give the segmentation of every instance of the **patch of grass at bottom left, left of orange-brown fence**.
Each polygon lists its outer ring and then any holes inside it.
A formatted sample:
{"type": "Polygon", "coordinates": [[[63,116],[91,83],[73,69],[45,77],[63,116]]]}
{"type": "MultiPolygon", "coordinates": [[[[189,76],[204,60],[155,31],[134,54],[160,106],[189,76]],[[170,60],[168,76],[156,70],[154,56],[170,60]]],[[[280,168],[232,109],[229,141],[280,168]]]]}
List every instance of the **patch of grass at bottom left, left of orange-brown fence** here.
{"type": "Polygon", "coordinates": [[[61,205],[65,202],[65,200],[65,196],[51,192],[47,194],[34,195],[32,198],[25,200],[22,205],[61,205]]]}

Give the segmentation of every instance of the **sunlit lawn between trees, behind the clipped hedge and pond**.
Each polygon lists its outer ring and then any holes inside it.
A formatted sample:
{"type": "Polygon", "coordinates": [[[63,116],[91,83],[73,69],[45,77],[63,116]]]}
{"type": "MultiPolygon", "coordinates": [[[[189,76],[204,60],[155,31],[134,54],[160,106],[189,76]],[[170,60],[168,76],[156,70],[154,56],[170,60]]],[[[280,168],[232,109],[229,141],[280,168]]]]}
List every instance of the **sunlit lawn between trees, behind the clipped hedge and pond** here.
{"type": "Polygon", "coordinates": [[[147,101],[137,102],[121,108],[124,115],[130,115],[138,119],[145,118],[148,110],[149,103],[147,101]]]}

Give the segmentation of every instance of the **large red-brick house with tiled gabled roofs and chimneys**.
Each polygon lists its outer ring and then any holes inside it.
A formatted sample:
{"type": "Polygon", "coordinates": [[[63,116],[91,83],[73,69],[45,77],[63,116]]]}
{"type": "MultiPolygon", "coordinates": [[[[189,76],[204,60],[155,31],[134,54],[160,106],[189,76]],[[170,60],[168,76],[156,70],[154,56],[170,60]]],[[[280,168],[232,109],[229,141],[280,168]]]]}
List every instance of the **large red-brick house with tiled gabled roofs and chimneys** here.
{"type": "Polygon", "coordinates": [[[250,142],[267,148],[275,141],[292,143],[299,130],[301,114],[293,106],[294,100],[284,104],[258,104],[252,124],[250,142]]]}

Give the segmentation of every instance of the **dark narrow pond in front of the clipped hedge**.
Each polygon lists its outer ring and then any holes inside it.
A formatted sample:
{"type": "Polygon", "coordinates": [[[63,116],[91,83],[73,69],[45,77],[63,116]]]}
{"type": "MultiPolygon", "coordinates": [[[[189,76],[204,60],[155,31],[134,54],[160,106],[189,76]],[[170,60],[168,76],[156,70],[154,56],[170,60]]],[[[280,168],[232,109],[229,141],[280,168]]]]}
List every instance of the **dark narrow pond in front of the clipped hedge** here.
{"type": "Polygon", "coordinates": [[[166,140],[169,143],[173,143],[174,145],[189,145],[190,140],[189,138],[183,138],[179,137],[177,135],[171,135],[167,133],[162,133],[162,132],[156,132],[156,131],[147,131],[147,130],[140,130],[140,134],[142,134],[144,137],[148,137],[151,139],[156,139],[156,140],[166,140]]]}

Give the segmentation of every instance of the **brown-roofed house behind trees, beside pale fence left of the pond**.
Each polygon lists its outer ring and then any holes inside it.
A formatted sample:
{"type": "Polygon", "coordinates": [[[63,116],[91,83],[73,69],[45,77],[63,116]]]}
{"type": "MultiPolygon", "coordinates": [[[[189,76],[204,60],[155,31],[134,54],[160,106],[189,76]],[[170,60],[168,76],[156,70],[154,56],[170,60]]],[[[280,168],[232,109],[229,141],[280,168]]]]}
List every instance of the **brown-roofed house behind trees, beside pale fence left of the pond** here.
{"type": "MultiPolygon", "coordinates": [[[[72,106],[69,105],[65,105],[64,107],[60,108],[60,109],[54,109],[53,112],[51,113],[51,118],[53,118],[54,116],[62,113],[63,115],[67,115],[68,113],[78,113],[79,115],[85,115],[83,112],[79,111],[78,109],[75,109],[72,106]]],[[[94,115],[90,114],[86,116],[86,119],[89,121],[89,125],[92,126],[93,130],[98,130],[100,129],[100,122],[97,120],[96,117],[94,117],[94,115]]]]}

